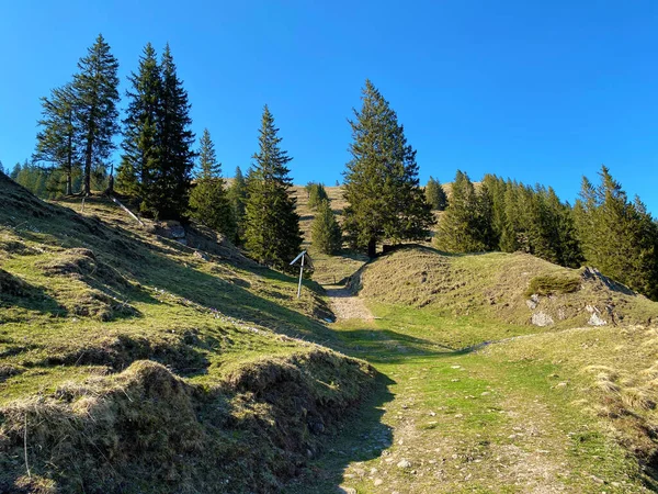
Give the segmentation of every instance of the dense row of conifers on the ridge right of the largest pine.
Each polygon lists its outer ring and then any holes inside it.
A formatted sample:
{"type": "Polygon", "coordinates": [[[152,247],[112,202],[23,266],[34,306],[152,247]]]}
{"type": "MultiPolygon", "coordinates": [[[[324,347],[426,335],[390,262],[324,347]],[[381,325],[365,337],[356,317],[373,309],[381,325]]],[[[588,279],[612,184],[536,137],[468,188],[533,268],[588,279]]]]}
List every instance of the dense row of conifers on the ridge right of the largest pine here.
{"type": "Polygon", "coordinates": [[[610,170],[582,179],[574,206],[552,188],[486,175],[476,189],[457,171],[434,245],[450,252],[524,251],[551,262],[593,266],[658,300],[658,224],[639,198],[629,201],[610,170]]]}

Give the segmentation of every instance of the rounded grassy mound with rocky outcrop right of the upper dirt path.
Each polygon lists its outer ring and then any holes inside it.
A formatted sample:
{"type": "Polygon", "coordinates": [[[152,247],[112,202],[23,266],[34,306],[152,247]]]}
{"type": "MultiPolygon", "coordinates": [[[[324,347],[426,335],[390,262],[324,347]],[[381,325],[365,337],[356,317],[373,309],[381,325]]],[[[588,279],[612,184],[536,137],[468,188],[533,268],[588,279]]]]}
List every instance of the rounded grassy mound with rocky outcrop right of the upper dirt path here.
{"type": "Polygon", "coordinates": [[[561,268],[526,254],[410,247],[367,265],[358,284],[377,302],[517,325],[646,324],[658,314],[658,304],[594,269],[561,268]]]}

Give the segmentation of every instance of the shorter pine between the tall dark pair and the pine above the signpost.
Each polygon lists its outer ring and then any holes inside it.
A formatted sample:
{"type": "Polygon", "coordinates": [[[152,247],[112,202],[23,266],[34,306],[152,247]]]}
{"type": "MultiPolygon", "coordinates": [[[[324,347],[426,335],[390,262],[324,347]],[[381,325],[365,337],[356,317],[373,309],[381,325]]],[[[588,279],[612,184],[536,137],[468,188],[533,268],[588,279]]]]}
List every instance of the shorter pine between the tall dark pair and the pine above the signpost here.
{"type": "Polygon", "coordinates": [[[196,186],[190,194],[192,217],[232,240],[236,234],[234,215],[222,178],[222,164],[217,161],[215,145],[207,128],[203,132],[200,145],[200,171],[196,186]]]}

